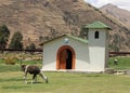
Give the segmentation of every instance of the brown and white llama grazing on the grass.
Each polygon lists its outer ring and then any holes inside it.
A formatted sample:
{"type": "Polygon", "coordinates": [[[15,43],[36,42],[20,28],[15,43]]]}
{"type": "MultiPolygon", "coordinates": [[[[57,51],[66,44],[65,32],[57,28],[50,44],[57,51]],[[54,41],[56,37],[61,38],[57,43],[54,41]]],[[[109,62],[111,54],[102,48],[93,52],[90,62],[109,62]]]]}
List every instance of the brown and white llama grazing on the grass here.
{"type": "Polygon", "coordinates": [[[48,78],[42,74],[39,67],[35,65],[22,65],[22,62],[21,62],[21,66],[22,66],[22,70],[24,71],[25,83],[27,83],[26,77],[28,72],[30,75],[34,75],[31,84],[34,83],[34,81],[37,82],[37,75],[39,75],[46,81],[46,83],[48,83],[48,78]]]}

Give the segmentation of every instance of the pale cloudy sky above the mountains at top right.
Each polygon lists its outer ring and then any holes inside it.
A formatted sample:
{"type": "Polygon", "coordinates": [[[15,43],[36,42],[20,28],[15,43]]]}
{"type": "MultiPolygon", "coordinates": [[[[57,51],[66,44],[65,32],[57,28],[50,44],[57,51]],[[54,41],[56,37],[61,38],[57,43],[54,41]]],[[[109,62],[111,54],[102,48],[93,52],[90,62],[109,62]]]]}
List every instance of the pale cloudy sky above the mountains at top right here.
{"type": "Polygon", "coordinates": [[[107,3],[117,5],[118,8],[130,11],[130,0],[84,0],[95,8],[101,8],[107,3]]]}

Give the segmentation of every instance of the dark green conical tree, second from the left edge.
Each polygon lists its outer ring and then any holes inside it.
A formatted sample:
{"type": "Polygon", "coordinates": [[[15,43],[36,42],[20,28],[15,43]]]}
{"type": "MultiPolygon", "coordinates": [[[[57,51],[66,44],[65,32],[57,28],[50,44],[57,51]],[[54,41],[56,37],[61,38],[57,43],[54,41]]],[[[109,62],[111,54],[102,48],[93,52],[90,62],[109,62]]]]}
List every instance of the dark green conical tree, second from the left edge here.
{"type": "Polygon", "coordinates": [[[14,32],[9,45],[10,49],[22,50],[23,49],[23,35],[20,31],[14,32]]]}

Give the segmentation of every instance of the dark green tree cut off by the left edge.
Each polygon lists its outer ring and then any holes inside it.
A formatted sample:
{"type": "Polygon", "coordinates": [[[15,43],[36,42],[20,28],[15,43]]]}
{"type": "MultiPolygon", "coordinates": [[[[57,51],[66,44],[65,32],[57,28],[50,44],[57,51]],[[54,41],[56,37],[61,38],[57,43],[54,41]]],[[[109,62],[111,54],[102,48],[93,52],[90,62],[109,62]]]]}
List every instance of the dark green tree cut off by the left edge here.
{"type": "Polygon", "coordinates": [[[5,25],[0,26],[0,49],[5,49],[10,38],[10,30],[5,25]]]}

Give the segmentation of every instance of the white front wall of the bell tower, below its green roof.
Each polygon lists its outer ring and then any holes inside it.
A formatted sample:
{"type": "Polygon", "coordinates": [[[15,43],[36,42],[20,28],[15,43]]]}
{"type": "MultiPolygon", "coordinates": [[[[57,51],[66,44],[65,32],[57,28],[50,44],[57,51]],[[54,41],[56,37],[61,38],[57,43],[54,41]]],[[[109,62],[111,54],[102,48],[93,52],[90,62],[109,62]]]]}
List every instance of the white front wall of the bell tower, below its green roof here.
{"type": "Polygon", "coordinates": [[[91,67],[93,71],[104,71],[105,69],[105,53],[106,53],[106,30],[91,29],[89,31],[89,54],[91,67]],[[99,39],[94,38],[94,32],[99,30],[99,39]]]}

